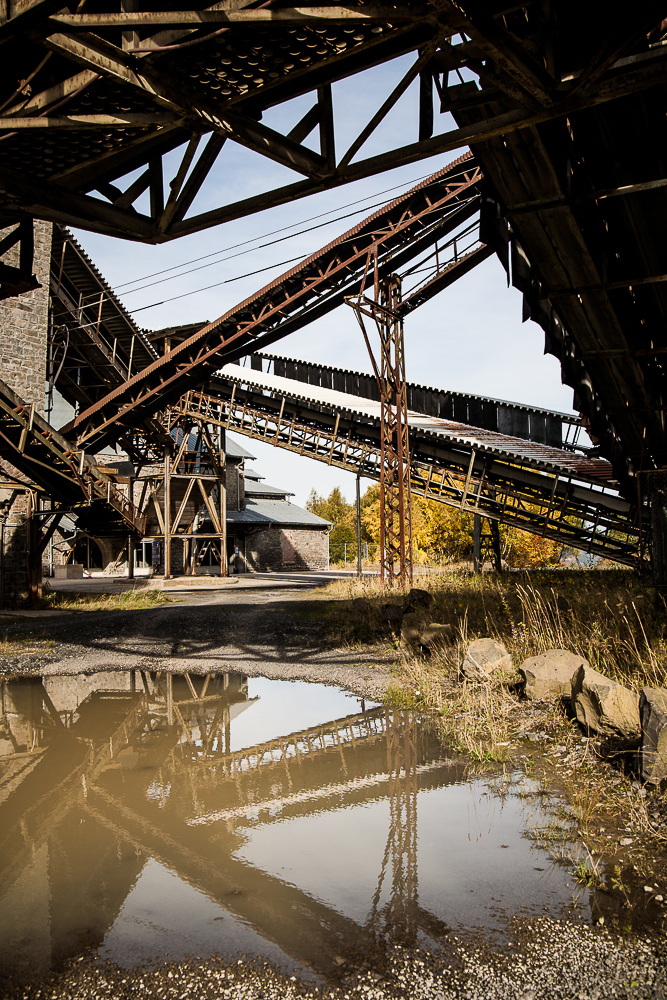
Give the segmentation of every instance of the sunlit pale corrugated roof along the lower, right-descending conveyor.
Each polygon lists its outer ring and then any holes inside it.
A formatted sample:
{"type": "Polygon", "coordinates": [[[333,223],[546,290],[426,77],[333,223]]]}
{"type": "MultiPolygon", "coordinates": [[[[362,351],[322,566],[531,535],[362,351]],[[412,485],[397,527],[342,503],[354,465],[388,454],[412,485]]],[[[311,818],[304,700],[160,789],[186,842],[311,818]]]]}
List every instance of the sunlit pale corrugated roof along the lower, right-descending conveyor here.
{"type": "MultiPolygon", "coordinates": [[[[321,386],[296,382],[283,378],[281,375],[271,375],[258,372],[240,365],[225,365],[220,375],[232,382],[255,386],[268,392],[288,396],[291,399],[302,399],[316,406],[327,406],[333,410],[346,411],[375,424],[380,422],[380,403],[373,399],[363,399],[336,389],[326,389],[321,386]]],[[[612,468],[603,459],[586,458],[560,448],[525,441],[522,438],[510,437],[497,431],[488,431],[479,427],[470,427],[454,420],[444,420],[440,417],[429,417],[414,411],[408,411],[408,423],[412,433],[432,435],[445,439],[466,448],[475,448],[480,452],[492,455],[502,455],[505,458],[516,458],[522,464],[530,464],[549,472],[572,475],[576,478],[593,479],[598,482],[608,482],[612,479],[612,468]]]]}

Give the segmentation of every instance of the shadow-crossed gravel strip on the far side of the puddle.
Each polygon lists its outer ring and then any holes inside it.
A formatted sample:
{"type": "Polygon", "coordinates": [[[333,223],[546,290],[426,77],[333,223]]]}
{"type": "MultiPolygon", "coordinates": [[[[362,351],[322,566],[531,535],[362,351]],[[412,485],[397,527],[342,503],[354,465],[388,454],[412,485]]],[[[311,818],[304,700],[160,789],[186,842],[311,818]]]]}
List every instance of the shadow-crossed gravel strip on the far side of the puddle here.
{"type": "Polygon", "coordinates": [[[289,614],[299,601],[303,601],[299,590],[225,591],[192,594],[177,604],[140,611],[29,619],[12,626],[10,633],[30,635],[33,641],[25,652],[2,657],[0,672],[233,670],[251,677],[317,681],[369,700],[381,699],[391,653],[381,646],[331,649],[317,619],[289,614]],[[47,649],[44,640],[53,647],[47,649]]]}

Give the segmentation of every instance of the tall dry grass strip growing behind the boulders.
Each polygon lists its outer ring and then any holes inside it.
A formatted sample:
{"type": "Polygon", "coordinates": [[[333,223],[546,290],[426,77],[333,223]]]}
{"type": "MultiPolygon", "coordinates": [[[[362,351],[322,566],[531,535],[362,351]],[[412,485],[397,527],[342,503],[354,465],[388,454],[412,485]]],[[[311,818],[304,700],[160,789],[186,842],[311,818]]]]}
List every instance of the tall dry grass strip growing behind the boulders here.
{"type": "MultiPolygon", "coordinates": [[[[492,636],[517,665],[527,656],[565,648],[634,689],[667,682],[666,609],[630,571],[532,570],[501,577],[443,572],[419,585],[434,598],[428,617],[453,626],[454,646],[443,649],[439,662],[430,661],[431,669],[458,666],[463,645],[492,636]]],[[[377,578],[337,580],[320,595],[339,605],[332,616],[336,634],[343,629],[357,640],[377,638],[382,605],[403,597],[377,578]],[[365,610],[351,606],[355,597],[367,599],[365,610]]]]}

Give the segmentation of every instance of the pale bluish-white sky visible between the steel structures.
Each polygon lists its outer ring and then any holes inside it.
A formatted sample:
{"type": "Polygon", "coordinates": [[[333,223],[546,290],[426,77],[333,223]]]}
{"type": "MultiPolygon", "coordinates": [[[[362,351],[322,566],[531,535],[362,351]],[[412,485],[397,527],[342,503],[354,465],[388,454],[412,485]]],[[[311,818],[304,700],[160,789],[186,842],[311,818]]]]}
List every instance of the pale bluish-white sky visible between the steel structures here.
{"type": "MultiPolygon", "coordinates": [[[[402,57],[334,85],[336,150],[339,157],[381,105],[410,62],[408,57],[402,57]]],[[[288,132],[309,106],[309,98],[299,98],[288,105],[271,109],[265,113],[263,122],[288,132]]],[[[416,107],[417,93],[413,85],[357,158],[415,141],[416,107]]],[[[436,131],[444,131],[451,127],[451,123],[449,115],[436,115],[436,131]]],[[[314,132],[306,143],[315,148],[316,140],[317,132],[314,132]]],[[[226,312],[293,266],[283,263],[287,259],[305,257],[349,229],[370,214],[370,204],[396,197],[417,180],[451,162],[461,152],[463,150],[431,157],[162,246],[145,246],[80,230],[76,231],[76,236],[141,326],[159,329],[172,324],[203,322],[226,312]],[[389,188],[395,190],[381,193],[389,188]],[[354,208],[345,209],[342,206],[358,200],[365,203],[363,211],[343,221],[329,222],[317,229],[313,227],[327,220],[306,221],[337,209],[340,211],[336,211],[336,215],[352,212],[354,208]],[[303,225],[291,230],[298,232],[303,229],[305,232],[302,235],[264,248],[237,246],[249,240],[263,243],[265,241],[260,238],[265,234],[302,222],[303,225]],[[236,249],[231,249],[233,247],[236,249]],[[231,256],[244,250],[250,252],[231,256]],[[208,254],[218,254],[212,258],[212,264],[207,260],[194,263],[195,258],[208,254]],[[220,257],[227,259],[220,260],[220,257]],[[193,261],[192,268],[208,266],[187,275],[179,276],[179,272],[175,271],[140,280],[162,269],[181,268],[187,261],[193,261]],[[253,277],[196,291],[196,294],[175,301],[164,301],[265,267],[271,269],[253,277]],[[161,280],[159,284],[145,287],[149,282],[165,278],[167,280],[161,280]],[[153,303],[164,304],[153,306],[153,303]],[[141,308],[145,306],[153,307],[141,308]]],[[[169,159],[172,158],[176,162],[175,154],[169,159]]],[[[168,169],[165,165],[166,175],[168,169]]],[[[300,175],[279,164],[228,142],[190,214],[209,211],[299,179],[300,175]]],[[[137,202],[139,210],[144,207],[141,201],[137,202]]],[[[268,236],[267,241],[291,235],[291,232],[268,236]]],[[[405,323],[409,380],[571,412],[572,390],[561,385],[560,366],[555,358],[543,355],[543,345],[541,329],[531,322],[522,324],[521,296],[515,289],[507,288],[505,273],[495,257],[416,310],[405,323]]],[[[306,329],[277,342],[272,350],[340,367],[370,370],[357,321],[347,306],[341,306],[306,329]]],[[[303,505],[312,487],[326,494],[334,486],[340,486],[348,499],[353,498],[355,477],[352,474],[261,442],[245,439],[243,443],[257,457],[256,471],[276,486],[289,487],[295,494],[294,502],[303,505]]]]}

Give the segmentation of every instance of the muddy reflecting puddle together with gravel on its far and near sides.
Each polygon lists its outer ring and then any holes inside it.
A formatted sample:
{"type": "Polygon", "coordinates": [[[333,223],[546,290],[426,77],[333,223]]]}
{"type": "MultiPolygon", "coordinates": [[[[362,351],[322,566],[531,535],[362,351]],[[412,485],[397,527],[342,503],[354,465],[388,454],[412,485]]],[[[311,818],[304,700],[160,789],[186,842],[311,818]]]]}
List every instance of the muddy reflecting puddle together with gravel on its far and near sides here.
{"type": "Polygon", "coordinates": [[[535,740],[471,770],[372,700],[389,653],[290,609],[201,594],[29,638],[2,681],[3,995],[665,996],[667,885],[576,880],[535,740]]]}

